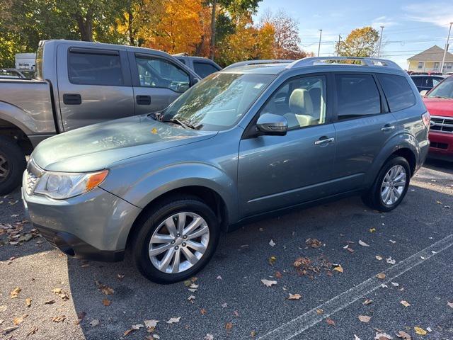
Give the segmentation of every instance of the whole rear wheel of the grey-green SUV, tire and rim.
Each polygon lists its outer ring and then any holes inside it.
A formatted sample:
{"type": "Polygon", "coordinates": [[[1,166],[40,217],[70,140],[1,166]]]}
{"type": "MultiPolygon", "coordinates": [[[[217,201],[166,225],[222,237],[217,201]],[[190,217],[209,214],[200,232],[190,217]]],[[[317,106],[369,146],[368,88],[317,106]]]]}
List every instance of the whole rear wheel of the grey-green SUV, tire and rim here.
{"type": "Polygon", "coordinates": [[[404,157],[391,157],[377,176],[372,188],[362,196],[370,208],[387,212],[394,210],[406,196],[411,169],[404,157]]]}

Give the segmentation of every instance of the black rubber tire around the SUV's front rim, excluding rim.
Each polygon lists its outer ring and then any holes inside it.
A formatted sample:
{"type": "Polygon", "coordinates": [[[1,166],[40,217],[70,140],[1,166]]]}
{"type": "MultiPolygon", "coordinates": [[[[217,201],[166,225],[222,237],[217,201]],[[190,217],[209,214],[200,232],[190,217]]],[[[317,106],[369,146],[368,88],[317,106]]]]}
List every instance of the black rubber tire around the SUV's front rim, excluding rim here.
{"type": "Polygon", "coordinates": [[[165,200],[155,208],[145,212],[137,223],[137,229],[135,229],[130,242],[132,260],[140,273],[155,283],[176,283],[192,277],[210,261],[219,242],[220,228],[216,215],[202,200],[193,196],[176,196],[173,199],[165,200]],[[178,212],[193,212],[200,215],[209,227],[209,242],[201,259],[192,267],[180,273],[164,273],[151,263],[148,252],[149,242],[159,225],[166,218],[178,212]]]}

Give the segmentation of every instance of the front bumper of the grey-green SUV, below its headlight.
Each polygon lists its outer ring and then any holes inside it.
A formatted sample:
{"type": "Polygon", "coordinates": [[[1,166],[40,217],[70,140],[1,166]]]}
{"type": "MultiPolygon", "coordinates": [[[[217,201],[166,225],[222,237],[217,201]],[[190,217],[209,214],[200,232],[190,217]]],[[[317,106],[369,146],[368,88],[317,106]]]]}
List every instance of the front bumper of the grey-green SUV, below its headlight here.
{"type": "Polygon", "coordinates": [[[67,200],[28,195],[22,188],[25,210],[52,246],[77,259],[120,261],[127,236],[140,208],[103,190],[67,200]]]}

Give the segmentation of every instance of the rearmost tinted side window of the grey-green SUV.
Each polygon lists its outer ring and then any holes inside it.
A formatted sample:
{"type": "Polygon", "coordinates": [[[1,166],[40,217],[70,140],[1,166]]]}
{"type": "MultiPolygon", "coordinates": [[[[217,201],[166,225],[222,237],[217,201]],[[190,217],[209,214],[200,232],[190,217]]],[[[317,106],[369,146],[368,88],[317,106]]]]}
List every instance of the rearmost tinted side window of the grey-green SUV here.
{"type": "Polygon", "coordinates": [[[390,111],[400,111],[415,105],[415,96],[406,77],[394,74],[377,74],[384,94],[389,103],[390,111]]]}

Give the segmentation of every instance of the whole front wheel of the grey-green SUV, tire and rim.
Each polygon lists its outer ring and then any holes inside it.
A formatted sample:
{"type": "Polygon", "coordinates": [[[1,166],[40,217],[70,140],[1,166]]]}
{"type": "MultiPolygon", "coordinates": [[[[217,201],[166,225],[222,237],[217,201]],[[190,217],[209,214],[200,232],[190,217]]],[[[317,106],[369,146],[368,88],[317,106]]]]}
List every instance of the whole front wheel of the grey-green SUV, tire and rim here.
{"type": "Polygon", "coordinates": [[[210,261],[219,241],[217,217],[195,197],[166,201],[139,223],[132,257],[139,271],[156,283],[190,278],[210,261]]]}

